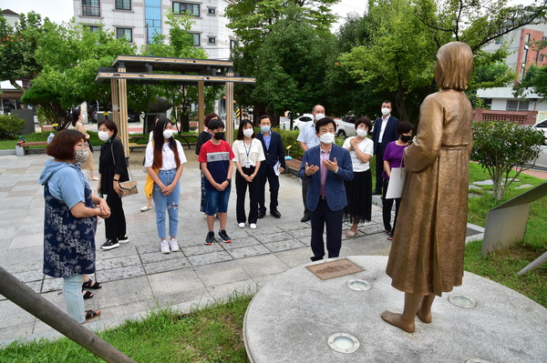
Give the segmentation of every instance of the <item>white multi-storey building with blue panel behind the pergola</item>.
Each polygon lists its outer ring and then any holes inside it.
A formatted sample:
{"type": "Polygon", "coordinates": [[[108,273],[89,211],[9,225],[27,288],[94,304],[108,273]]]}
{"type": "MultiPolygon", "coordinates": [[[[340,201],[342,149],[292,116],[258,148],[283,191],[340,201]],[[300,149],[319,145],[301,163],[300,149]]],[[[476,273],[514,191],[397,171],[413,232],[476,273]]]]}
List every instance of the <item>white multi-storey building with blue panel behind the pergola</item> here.
{"type": "Polygon", "coordinates": [[[178,14],[188,11],[195,24],[191,25],[194,45],[201,46],[211,59],[228,59],[235,45],[232,31],[226,27],[224,15],[227,0],[73,0],[74,16],[79,24],[93,29],[98,23],[125,36],[135,45],[150,43],[155,32],[169,34],[165,24],[168,10],[178,14]]]}

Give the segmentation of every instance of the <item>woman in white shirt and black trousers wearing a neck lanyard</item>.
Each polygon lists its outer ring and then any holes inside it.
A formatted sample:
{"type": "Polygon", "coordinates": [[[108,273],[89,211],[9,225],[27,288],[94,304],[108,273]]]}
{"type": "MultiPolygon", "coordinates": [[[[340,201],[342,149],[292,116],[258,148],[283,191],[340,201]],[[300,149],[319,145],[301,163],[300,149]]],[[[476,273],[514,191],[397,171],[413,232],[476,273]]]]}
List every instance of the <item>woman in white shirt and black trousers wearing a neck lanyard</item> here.
{"type": "Polygon", "coordinates": [[[249,187],[249,227],[256,228],[258,219],[258,177],[260,162],[265,159],[260,140],[254,138],[253,123],[244,119],[240,123],[237,140],[233,142],[233,162],[237,168],[235,173],[235,190],[237,192],[236,216],[238,226],[245,227],[245,194],[249,187]]]}

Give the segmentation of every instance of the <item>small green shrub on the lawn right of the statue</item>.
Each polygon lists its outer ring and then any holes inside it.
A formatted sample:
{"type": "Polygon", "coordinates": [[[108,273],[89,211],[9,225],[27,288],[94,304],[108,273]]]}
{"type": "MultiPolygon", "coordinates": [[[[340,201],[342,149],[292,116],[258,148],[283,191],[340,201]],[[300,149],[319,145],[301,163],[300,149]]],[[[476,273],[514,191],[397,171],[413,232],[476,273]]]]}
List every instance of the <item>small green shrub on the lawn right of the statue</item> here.
{"type": "Polygon", "coordinates": [[[471,160],[479,162],[493,182],[493,196],[501,200],[507,188],[540,154],[544,135],[530,126],[510,121],[480,121],[473,124],[471,160]],[[510,173],[515,175],[510,178],[510,173]]]}

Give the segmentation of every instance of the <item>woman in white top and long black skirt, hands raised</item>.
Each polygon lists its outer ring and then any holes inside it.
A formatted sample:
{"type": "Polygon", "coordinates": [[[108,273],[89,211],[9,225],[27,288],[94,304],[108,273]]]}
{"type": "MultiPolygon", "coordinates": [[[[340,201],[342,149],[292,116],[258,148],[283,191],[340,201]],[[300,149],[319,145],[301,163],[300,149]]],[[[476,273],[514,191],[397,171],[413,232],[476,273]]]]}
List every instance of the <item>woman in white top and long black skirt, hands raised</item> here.
{"type": "Polygon", "coordinates": [[[374,153],[374,143],[367,138],[372,123],[368,117],[356,121],[356,136],[346,138],[343,147],[349,150],[354,178],[346,181],[347,207],[344,217],[353,223],[346,237],[354,237],[360,221],[370,222],[372,214],[372,176],[368,160],[374,153]]]}

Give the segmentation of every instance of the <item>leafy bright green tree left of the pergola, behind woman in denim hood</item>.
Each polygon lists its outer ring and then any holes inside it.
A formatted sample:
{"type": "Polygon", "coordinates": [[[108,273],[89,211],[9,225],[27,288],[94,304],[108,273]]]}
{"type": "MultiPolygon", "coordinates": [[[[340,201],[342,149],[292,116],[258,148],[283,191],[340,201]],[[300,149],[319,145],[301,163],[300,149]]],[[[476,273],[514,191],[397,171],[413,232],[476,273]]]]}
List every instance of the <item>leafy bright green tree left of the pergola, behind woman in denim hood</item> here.
{"type": "Polygon", "coordinates": [[[56,25],[46,19],[44,30],[35,54],[42,70],[22,100],[43,107],[49,119],[65,128],[70,108],[95,99],[108,103],[110,85],[95,83],[98,68],[110,66],[117,55],[134,54],[135,46],[102,27],[89,32],[74,22],[56,25]]]}

